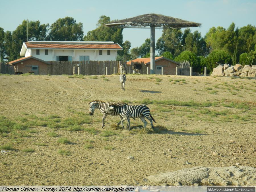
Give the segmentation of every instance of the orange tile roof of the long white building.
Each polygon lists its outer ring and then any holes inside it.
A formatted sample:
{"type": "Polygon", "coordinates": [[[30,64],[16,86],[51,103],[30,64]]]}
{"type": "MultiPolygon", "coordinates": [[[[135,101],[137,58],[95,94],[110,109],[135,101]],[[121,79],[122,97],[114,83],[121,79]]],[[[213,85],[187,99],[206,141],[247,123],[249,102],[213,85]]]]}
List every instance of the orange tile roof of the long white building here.
{"type": "Polygon", "coordinates": [[[27,48],[38,49],[122,49],[117,43],[31,43],[25,42],[27,48]]]}

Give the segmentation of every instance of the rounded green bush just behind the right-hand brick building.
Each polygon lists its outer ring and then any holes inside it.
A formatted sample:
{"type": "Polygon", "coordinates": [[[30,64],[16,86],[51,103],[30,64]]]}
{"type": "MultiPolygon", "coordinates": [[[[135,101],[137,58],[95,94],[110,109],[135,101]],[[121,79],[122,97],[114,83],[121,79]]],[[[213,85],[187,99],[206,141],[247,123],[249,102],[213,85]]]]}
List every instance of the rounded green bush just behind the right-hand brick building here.
{"type": "Polygon", "coordinates": [[[174,61],[183,62],[189,61],[190,66],[193,67],[194,71],[201,71],[201,65],[197,55],[191,51],[183,51],[180,55],[175,57],[174,61]]]}

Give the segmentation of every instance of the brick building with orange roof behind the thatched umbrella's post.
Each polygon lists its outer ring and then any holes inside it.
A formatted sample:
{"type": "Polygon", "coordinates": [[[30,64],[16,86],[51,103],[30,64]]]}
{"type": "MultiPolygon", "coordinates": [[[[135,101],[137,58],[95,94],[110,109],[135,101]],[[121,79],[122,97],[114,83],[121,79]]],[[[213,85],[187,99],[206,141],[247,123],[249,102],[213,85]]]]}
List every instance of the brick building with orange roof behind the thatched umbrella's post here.
{"type": "MultiPolygon", "coordinates": [[[[150,57],[148,58],[137,58],[132,61],[128,61],[127,65],[131,65],[131,62],[144,62],[146,67],[150,69],[150,57]]],[[[166,57],[155,57],[155,73],[162,74],[162,67],[164,67],[164,75],[176,75],[176,67],[180,63],[168,59],[166,57]]]]}

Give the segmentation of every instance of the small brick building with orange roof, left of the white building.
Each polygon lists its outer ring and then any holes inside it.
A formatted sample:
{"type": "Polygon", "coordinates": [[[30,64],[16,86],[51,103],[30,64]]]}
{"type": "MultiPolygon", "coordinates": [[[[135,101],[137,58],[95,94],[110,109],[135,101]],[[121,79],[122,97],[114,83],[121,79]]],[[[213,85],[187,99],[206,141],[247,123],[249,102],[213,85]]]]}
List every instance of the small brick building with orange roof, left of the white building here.
{"type": "Polygon", "coordinates": [[[8,64],[14,65],[15,72],[29,73],[34,72],[35,75],[47,75],[49,62],[43,61],[33,56],[22,57],[8,64]]]}

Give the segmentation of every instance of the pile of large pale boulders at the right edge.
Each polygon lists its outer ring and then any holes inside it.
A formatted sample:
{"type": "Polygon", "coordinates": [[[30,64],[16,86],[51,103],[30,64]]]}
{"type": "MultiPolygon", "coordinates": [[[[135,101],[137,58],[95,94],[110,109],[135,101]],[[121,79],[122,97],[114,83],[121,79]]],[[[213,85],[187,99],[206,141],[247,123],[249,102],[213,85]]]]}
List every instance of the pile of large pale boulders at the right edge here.
{"type": "Polygon", "coordinates": [[[214,68],[211,76],[240,76],[240,77],[256,77],[256,65],[219,65],[214,68]]]}

